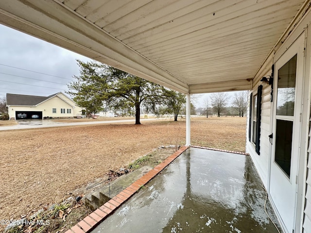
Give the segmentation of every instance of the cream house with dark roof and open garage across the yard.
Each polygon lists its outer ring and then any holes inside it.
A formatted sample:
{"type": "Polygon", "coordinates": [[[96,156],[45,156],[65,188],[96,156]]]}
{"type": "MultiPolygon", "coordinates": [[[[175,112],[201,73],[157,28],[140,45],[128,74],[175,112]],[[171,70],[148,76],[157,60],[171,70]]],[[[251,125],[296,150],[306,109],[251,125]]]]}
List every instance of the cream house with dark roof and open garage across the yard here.
{"type": "Polygon", "coordinates": [[[62,92],[51,96],[6,94],[10,119],[73,118],[82,108],[62,92]]]}

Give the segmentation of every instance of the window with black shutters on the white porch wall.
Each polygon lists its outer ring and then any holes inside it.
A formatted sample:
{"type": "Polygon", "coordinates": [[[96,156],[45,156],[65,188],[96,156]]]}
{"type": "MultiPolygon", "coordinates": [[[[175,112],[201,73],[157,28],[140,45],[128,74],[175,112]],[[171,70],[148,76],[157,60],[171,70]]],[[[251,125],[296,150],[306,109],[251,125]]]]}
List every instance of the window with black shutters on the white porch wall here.
{"type": "Polygon", "coordinates": [[[250,96],[250,120],[249,120],[249,141],[254,143],[255,150],[260,155],[260,121],[261,121],[261,92],[262,85],[257,89],[257,94],[250,96]]]}

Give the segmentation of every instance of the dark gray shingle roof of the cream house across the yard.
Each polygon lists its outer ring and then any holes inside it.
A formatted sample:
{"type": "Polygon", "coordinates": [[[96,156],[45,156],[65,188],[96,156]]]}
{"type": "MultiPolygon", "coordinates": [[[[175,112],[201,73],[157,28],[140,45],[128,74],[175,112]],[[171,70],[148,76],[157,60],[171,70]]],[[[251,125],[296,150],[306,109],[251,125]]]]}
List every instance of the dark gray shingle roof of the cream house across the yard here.
{"type": "MultiPolygon", "coordinates": [[[[57,94],[57,93],[56,93],[57,94]]],[[[17,95],[17,94],[6,94],[6,103],[7,105],[27,105],[34,106],[38,103],[41,103],[44,100],[51,98],[52,96],[28,96],[28,95],[17,95]]]]}

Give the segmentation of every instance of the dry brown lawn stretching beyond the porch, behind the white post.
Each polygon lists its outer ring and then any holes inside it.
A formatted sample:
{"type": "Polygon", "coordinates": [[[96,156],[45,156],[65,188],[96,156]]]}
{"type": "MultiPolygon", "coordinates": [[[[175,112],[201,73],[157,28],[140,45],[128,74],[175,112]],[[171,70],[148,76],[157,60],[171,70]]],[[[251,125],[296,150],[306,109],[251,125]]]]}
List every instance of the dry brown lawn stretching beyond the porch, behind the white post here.
{"type": "MultiPolygon", "coordinates": [[[[193,117],[191,144],[244,151],[245,125],[245,117],[193,117]]],[[[161,145],[184,145],[185,128],[181,120],[1,131],[0,219],[62,200],[161,145]]]]}

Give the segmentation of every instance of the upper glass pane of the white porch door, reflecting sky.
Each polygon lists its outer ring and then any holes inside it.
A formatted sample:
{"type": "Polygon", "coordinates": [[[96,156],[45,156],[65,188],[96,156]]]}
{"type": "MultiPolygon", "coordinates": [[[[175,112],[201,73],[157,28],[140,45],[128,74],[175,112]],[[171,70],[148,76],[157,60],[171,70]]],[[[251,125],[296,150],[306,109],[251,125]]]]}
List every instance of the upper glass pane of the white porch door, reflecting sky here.
{"type": "Polygon", "coordinates": [[[294,116],[297,55],[278,70],[276,115],[294,116]]]}

